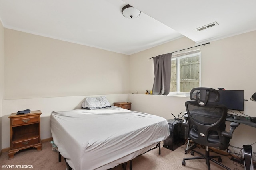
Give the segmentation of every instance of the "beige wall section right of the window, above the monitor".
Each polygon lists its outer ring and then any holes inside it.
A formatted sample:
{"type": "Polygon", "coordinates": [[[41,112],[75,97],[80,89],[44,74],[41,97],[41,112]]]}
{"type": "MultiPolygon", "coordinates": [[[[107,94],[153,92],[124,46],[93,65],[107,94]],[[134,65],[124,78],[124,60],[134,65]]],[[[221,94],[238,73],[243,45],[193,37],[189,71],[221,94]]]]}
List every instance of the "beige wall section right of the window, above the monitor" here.
{"type": "Polygon", "coordinates": [[[202,86],[244,90],[245,99],[250,99],[256,92],[255,47],[256,31],[214,41],[202,47],[202,86]]]}

